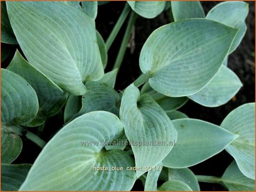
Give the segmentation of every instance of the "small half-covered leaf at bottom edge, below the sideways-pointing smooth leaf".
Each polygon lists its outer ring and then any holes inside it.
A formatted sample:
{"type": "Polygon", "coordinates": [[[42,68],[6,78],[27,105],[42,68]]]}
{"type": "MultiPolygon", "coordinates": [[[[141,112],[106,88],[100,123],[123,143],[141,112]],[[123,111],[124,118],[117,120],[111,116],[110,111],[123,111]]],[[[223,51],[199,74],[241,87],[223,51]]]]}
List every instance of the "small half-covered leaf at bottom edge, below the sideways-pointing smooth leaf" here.
{"type": "Polygon", "coordinates": [[[169,168],[169,180],[178,180],[187,184],[193,191],[200,191],[196,175],[189,168],[169,168]]]}

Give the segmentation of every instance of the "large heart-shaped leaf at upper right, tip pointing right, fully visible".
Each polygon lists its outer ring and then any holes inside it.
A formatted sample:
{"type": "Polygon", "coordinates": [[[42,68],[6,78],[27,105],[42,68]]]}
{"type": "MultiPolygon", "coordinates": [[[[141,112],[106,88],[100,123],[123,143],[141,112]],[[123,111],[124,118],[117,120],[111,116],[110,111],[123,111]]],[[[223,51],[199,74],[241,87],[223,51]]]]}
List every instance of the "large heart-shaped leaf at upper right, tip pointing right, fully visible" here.
{"type": "Polygon", "coordinates": [[[216,75],[236,33],[236,28],[208,19],[162,26],[142,47],[141,71],[149,75],[151,87],[163,95],[192,95],[216,75]]]}

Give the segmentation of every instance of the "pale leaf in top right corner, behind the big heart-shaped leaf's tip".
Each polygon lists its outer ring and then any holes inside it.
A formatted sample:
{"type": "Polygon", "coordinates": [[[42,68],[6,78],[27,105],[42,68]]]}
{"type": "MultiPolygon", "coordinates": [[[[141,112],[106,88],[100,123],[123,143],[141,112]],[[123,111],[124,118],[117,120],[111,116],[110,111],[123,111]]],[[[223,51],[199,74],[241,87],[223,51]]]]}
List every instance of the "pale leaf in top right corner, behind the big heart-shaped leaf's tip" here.
{"type": "Polygon", "coordinates": [[[213,7],[207,14],[207,19],[219,21],[223,24],[238,28],[237,36],[230,47],[233,52],[241,43],[246,32],[245,19],[249,12],[249,4],[243,1],[221,2],[213,7]]]}

